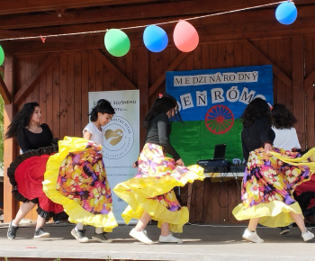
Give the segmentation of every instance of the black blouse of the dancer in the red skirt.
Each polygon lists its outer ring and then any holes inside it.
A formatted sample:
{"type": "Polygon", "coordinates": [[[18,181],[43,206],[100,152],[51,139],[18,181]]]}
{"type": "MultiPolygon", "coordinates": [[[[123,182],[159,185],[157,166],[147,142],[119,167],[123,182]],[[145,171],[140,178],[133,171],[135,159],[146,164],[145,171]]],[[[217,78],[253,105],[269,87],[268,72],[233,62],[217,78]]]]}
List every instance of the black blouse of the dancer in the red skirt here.
{"type": "Polygon", "coordinates": [[[51,145],[50,143],[53,136],[49,126],[46,123],[42,123],[40,124],[40,127],[42,129],[40,133],[34,133],[25,128],[18,132],[17,142],[23,152],[51,145]]]}

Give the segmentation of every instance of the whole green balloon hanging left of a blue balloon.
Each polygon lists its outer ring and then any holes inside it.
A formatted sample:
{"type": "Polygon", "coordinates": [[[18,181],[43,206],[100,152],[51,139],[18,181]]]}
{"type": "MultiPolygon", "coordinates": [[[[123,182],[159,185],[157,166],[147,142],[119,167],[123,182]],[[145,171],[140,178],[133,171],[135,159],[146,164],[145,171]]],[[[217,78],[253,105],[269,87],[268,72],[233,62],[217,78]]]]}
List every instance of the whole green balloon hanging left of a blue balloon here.
{"type": "Polygon", "coordinates": [[[115,57],[124,56],[130,49],[130,40],[127,34],[118,29],[106,31],[104,43],[108,52],[115,57]]]}

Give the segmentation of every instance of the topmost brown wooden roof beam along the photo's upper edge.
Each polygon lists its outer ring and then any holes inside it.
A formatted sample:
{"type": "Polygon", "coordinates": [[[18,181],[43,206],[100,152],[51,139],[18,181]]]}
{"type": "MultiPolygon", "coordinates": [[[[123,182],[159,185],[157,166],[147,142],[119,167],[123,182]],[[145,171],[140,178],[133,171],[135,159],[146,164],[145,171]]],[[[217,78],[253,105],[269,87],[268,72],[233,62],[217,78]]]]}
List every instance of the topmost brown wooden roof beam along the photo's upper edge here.
{"type": "MultiPolygon", "coordinates": [[[[314,0],[312,0],[314,1],[314,0]]],[[[257,0],[259,4],[274,3],[272,0],[257,0]]],[[[75,10],[66,12],[67,15],[58,17],[57,14],[16,14],[0,16],[0,28],[21,29],[44,26],[56,26],[80,23],[103,23],[130,21],[139,19],[154,19],[166,17],[174,20],[175,17],[185,19],[193,15],[213,14],[223,11],[236,10],[248,7],[247,2],[225,0],[222,1],[180,1],[176,3],[160,1],[157,4],[142,4],[128,6],[105,6],[96,10],[75,10]],[[196,4],[195,2],[198,2],[196,4]],[[176,10],[176,12],[174,11],[176,10]]],[[[275,7],[275,6],[274,6],[275,7]]],[[[271,7],[270,7],[271,8],[271,7]]]]}

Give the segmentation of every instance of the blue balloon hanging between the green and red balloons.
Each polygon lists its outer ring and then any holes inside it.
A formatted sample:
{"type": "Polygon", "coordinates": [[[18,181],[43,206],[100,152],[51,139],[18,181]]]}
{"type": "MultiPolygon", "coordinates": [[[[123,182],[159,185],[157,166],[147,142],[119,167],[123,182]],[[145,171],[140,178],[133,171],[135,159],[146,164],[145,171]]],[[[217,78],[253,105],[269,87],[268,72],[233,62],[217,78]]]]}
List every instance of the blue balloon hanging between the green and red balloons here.
{"type": "Polygon", "coordinates": [[[168,37],[162,28],[157,25],[148,25],[143,32],[143,42],[148,50],[159,52],[166,49],[168,37]]]}

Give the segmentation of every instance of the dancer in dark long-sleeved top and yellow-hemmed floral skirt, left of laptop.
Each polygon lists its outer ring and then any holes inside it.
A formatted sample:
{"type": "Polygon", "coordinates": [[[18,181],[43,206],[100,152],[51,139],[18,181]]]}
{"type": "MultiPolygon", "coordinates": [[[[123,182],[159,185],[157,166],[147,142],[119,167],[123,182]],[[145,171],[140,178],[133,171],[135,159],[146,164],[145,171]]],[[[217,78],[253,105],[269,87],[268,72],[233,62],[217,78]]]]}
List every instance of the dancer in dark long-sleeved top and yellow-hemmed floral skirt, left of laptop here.
{"type": "Polygon", "coordinates": [[[171,145],[169,135],[171,123],[175,120],[182,121],[175,98],[160,94],[143,121],[147,135],[137,161],[138,174],[113,189],[129,203],[122,213],[126,223],[132,218],[139,220],[136,227],[131,229],[130,236],[145,244],[153,243],[144,230],[149,220],[157,220],[157,227],[161,229],[160,243],[183,243],[172,232],[183,232],[189,213],[176,200],[173,188],[204,178],[202,167],[185,167],[171,145]],[[166,157],[166,153],[173,158],[166,157]]]}

